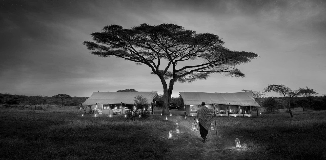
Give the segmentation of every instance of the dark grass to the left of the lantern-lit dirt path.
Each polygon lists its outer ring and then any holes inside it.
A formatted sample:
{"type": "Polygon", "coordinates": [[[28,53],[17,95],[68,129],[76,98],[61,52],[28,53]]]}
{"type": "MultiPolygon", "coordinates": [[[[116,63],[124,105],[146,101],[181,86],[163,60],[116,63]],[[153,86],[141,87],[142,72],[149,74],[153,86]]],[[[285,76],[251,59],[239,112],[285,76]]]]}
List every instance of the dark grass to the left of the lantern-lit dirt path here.
{"type": "MultiPolygon", "coordinates": [[[[46,107],[45,107],[46,108],[46,107]]],[[[173,123],[79,116],[76,108],[1,108],[0,159],[165,159],[173,123]]]]}

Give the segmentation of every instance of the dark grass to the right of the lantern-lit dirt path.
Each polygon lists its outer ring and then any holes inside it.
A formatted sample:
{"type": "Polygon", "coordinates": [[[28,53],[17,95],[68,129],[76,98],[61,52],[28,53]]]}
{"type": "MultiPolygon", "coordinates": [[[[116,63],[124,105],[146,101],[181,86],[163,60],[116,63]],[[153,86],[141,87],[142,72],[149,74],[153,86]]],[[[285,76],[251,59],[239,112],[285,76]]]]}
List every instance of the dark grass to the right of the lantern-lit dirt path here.
{"type": "MultiPolygon", "coordinates": [[[[220,121],[224,135],[242,139],[244,159],[326,159],[326,111],[282,110],[279,114],[220,121]]],[[[220,119],[221,119],[220,118],[220,119]]]]}

